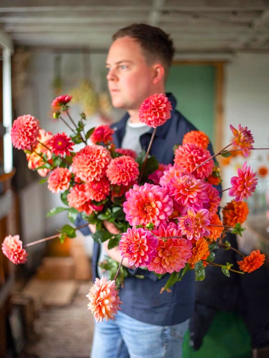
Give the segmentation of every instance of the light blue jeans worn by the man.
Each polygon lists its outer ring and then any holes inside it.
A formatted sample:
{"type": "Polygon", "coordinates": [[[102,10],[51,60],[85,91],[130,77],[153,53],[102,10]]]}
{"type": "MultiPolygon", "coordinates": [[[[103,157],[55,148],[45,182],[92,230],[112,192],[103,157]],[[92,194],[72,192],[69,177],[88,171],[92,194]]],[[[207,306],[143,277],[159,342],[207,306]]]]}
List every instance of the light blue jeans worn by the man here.
{"type": "Polygon", "coordinates": [[[156,326],[118,311],[115,320],[95,324],[91,358],[181,358],[188,325],[156,326]]]}

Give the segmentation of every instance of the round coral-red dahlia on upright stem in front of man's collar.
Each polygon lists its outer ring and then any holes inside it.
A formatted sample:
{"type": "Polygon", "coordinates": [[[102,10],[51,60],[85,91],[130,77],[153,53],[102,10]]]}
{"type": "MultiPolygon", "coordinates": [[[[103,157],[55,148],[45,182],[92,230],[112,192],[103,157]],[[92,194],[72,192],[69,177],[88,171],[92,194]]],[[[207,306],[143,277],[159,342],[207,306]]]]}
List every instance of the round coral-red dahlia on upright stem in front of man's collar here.
{"type": "Polygon", "coordinates": [[[168,98],[162,93],[159,95],[156,93],[142,102],[138,110],[138,117],[140,122],[156,128],[171,118],[171,110],[172,106],[168,98]]]}

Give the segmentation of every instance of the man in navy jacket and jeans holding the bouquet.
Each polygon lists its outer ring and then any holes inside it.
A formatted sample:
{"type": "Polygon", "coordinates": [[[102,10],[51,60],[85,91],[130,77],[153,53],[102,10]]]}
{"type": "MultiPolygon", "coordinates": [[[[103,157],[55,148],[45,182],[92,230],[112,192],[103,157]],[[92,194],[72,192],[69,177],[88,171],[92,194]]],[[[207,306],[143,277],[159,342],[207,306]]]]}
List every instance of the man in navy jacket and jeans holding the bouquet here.
{"type": "MultiPolygon", "coordinates": [[[[169,35],[145,24],[133,24],[113,35],[107,56],[107,80],[114,107],[127,114],[113,126],[117,147],[147,149],[153,129],[138,118],[138,108],[150,95],[165,93],[165,79],[174,55],[169,35]]],[[[173,145],[195,127],[175,110],[176,101],[168,94],[173,110],[171,119],[157,128],[151,155],[159,163],[173,163],[173,145]]],[[[80,223],[77,221],[77,225],[80,223]]],[[[108,227],[113,232],[114,228],[108,227]]],[[[118,248],[103,249],[121,261],[118,248]]],[[[100,245],[94,244],[93,267],[100,261],[100,245]]],[[[128,263],[126,263],[128,267],[128,263]]],[[[169,275],[161,280],[150,271],[129,268],[130,277],[120,289],[122,311],[115,320],[95,326],[92,358],[174,358],[181,357],[182,342],[194,308],[194,272],[188,271],[172,293],[163,292],[169,275]],[[144,279],[137,278],[145,276],[144,279]]],[[[100,273],[99,273],[100,276],[100,273]]],[[[95,278],[95,277],[93,277],[95,278]]]]}

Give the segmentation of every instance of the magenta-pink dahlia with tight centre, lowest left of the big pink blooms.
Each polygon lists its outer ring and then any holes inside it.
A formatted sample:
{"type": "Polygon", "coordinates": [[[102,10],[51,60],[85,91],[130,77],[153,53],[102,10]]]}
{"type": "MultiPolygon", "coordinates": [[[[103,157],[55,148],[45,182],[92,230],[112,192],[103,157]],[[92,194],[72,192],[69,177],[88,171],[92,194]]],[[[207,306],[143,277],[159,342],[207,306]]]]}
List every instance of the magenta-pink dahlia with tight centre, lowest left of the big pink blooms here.
{"type": "Polygon", "coordinates": [[[130,266],[147,266],[156,253],[157,245],[158,239],[150,231],[133,227],[122,234],[119,250],[130,266]]]}

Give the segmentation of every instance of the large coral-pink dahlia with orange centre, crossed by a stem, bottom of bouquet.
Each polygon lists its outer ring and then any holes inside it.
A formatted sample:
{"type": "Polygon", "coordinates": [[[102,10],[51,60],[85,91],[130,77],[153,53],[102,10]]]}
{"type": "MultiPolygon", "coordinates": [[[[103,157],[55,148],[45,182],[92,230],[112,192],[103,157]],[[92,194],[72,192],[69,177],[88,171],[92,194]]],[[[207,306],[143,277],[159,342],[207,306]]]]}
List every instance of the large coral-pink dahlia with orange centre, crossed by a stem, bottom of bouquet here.
{"type": "Polygon", "coordinates": [[[188,259],[192,256],[192,243],[184,238],[166,238],[169,236],[181,236],[180,230],[174,223],[161,224],[154,231],[159,236],[157,253],[148,265],[148,270],[157,274],[170,274],[183,269],[188,259]]]}

